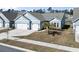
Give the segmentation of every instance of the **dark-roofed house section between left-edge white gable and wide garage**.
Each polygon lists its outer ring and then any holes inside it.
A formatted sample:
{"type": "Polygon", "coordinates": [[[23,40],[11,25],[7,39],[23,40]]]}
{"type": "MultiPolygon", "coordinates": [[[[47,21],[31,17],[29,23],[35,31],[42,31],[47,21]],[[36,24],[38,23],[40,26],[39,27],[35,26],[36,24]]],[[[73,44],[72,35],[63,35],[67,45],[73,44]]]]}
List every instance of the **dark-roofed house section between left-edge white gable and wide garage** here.
{"type": "Polygon", "coordinates": [[[17,12],[4,11],[3,14],[4,14],[4,16],[5,16],[5,17],[8,19],[8,21],[9,21],[8,27],[14,28],[14,27],[15,27],[15,25],[14,25],[14,24],[15,24],[15,21],[14,21],[14,19],[17,18],[18,13],[17,13],[17,12]]]}

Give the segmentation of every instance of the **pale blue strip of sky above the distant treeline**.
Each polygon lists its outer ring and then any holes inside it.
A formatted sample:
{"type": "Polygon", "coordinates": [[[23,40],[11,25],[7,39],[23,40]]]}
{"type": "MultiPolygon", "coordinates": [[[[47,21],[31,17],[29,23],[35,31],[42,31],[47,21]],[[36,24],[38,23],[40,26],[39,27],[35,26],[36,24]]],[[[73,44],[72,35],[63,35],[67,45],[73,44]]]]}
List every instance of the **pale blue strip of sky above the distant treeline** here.
{"type": "MultiPolygon", "coordinates": [[[[15,9],[15,10],[28,10],[28,11],[32,11],[33,9],[48,9],[49,7],[13,7],[13,8],[10,8],[10,9],[15,9]]],[[[7,10],[9,8],[3,8],[4,10],[7,10]]],[[[65,9],[73,9],[73,7],[52,7],[52,9],[54,10],[65,10],[65,9]]]]}

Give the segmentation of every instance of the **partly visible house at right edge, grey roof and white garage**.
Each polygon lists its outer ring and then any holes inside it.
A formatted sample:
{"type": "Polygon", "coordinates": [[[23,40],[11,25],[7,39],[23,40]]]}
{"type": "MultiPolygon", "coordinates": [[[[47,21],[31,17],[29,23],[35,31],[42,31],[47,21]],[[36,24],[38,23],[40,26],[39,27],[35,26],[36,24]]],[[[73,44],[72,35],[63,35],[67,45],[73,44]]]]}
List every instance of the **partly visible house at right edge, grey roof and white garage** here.
{"type": "Polygon", "coordinates": [[[79,8],[73,11],[73,32],[75,33],[75,41],[79,42],[79,8]]]}

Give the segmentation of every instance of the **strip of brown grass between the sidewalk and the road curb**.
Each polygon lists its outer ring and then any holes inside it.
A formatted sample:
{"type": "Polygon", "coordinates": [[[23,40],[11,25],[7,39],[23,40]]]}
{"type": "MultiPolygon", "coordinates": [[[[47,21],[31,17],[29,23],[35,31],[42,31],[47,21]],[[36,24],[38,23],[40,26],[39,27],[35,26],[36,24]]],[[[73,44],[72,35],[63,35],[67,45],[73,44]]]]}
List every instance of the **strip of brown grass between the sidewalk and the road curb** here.
{"type": "Polygon", "coordinates": [[[38,52],[66,52],[66,51],[59,50],[59,49],[48,48],[48,47],[39,46],[39,45],[35,45],[35,44],[14,41],[14,40],[11,40],[11,39],[8,40],[8,41],[6,41],[6,39],[0,40],[0,42],[6,43],[6,44],[9,44],[9,45],[13,45],[13,46],[18,46],[18,47],[21,47],[21,48],[30,49],[30,50],[33,50],[33,51],[38,51],[38,52]]]}

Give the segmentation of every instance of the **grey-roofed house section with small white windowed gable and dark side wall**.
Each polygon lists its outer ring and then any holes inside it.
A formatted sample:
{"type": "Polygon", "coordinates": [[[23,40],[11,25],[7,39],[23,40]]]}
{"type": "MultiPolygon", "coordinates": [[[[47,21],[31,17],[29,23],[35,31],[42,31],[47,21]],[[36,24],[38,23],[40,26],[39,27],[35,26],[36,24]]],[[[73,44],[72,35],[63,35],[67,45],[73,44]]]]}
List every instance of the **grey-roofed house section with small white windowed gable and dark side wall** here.
{"type": "Polygon", "coordinates": [[[42,14],[44,18],[50,21],[58,29],[62,29],[65,25],[65,13],[45,13],[42,14]]]}

